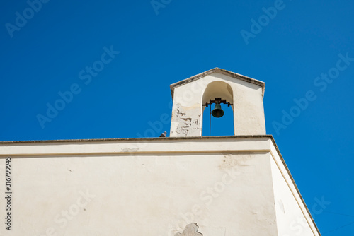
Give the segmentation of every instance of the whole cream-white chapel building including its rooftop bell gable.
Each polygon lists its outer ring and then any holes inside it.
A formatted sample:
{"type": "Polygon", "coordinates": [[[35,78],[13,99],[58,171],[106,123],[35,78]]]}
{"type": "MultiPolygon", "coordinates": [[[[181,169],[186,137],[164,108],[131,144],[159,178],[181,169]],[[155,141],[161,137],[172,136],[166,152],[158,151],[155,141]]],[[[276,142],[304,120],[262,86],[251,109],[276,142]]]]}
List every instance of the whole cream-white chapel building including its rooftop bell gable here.
{"type": "Polygon", "coordinates": [[[265,133],[265,83],[215,68],[170,88],[169,137],[0,142],[0,235],[321,235],[265,133]],[[234,135],[202,136],[220,103],[234,135]]]}

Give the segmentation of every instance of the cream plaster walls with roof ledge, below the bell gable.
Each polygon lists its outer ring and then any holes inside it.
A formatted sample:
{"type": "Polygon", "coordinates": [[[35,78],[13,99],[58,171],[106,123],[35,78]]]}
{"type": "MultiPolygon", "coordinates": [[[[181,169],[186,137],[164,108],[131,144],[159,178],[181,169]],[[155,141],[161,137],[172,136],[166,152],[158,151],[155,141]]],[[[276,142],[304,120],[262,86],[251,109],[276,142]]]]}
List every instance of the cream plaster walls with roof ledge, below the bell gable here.
{"type": "Polygon", "coordinates": [[[290,175],[270,136],[0,143],[6,156],[13,230],[0,235],[283,236],[275,195],[310,218],[291,181],[273,186],[290,175]]]}

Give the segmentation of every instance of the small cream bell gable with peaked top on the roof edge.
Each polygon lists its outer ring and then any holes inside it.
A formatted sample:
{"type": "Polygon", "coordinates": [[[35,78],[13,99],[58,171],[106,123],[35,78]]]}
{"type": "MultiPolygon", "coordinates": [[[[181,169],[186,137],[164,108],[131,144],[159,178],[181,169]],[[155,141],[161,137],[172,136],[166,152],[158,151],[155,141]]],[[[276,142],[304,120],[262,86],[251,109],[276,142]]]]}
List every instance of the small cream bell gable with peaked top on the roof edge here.
{"type": "MultiPolygon", "coordinates": [[[[215,68],[173,83],[170,88],[171,137],[202,136],[203,110],[213,104],[220,108],[220,103],[232,107],[234,135],[265,134],[262,81],[215,68]]],[[[223,111],[213,113],[219,117],[223,111]]]]}

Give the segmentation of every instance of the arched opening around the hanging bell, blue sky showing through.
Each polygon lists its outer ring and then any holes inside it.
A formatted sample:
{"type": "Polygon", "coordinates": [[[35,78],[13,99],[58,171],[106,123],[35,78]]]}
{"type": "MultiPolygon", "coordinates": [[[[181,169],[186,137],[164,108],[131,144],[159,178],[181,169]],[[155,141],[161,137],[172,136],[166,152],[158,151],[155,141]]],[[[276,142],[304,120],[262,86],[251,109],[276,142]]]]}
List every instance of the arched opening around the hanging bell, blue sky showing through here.
{"type": "Polygon", "coordinates": [[[234,94],[231,86],[223,81],[215,81],[207,85],[202,96],[202,136],[232,136],[234,135],[234,110],[233,105],[220,103],[224,111],[222,117],[216,118],[210,115],[211,110],[215,109],[215,98],[233,104],[234,94]],[[206,104],[208,104],[206,106],[206,104]],[[211,125],[210,125],[211,122],[211,125]],[[211,127],[211,129],[210,129],[211,127]]]}

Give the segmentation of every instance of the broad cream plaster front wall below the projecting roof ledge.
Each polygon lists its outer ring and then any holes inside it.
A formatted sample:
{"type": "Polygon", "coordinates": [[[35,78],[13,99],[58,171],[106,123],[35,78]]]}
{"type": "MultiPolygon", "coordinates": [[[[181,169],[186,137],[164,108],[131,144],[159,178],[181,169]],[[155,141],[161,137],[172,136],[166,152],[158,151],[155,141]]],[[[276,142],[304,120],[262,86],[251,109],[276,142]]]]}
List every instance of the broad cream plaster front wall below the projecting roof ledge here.
{"type": "Polygon", "coordinates": [[[165,236],[196,222],[204,235],[251,230],[273,236],[268,161],[264,154],[221,153],[13,158],[11,235],[46,235],[49,229],[58,235],[165,236]]]}

